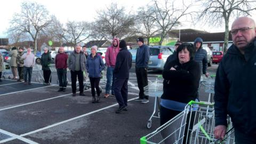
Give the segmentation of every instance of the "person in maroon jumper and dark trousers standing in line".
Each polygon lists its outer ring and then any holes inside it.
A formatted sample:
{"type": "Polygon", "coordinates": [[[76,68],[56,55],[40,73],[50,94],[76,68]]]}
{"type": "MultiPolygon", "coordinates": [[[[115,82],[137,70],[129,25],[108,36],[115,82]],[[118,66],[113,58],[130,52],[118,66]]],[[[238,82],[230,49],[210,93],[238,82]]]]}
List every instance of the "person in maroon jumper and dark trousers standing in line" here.
{"type": "Polygon", "coordinates": [[[60,47],[58,54],[54,58],[60,87],[58,92],[65,92],[67,88],[67,61],[68,54],[64,52],[64,47],[60,47]]]}

